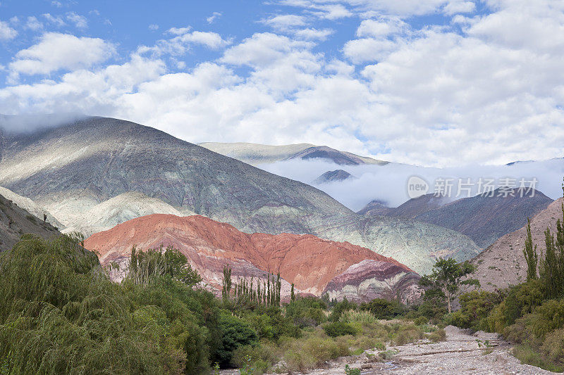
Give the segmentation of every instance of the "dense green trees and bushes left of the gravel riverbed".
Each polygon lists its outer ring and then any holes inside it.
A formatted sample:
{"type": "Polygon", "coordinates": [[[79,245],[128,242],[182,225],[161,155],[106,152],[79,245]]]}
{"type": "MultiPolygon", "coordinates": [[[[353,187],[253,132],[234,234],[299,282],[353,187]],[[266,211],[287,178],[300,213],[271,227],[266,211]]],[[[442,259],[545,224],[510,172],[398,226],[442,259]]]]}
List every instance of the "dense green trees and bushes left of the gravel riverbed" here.
{"type": "Polygon", "coordinates": [[[377,319],[406,312],[397,302],[281,303],[278,277],[260,284],[230,273],[224,282],[233,290],[216,298],[196,286],[200,277],[178,250],[133,249],[128,277],[115,284],[80,239],[25,235],[0,255],[0,374],[297,371],[443,337],[427,319],[377,319]]]}

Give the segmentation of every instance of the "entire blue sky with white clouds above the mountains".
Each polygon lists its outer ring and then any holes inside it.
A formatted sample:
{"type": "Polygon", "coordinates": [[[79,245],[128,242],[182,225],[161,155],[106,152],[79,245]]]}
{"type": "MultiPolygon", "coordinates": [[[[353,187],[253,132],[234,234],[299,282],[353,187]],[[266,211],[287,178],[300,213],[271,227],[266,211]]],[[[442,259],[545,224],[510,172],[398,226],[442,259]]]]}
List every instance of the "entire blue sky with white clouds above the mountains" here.
{"type": "Polygon", "coordinates": [[[426,167],[562,157],[563,66],[562,0],[0,0],[0,113],[193,143],[426,167]]]}

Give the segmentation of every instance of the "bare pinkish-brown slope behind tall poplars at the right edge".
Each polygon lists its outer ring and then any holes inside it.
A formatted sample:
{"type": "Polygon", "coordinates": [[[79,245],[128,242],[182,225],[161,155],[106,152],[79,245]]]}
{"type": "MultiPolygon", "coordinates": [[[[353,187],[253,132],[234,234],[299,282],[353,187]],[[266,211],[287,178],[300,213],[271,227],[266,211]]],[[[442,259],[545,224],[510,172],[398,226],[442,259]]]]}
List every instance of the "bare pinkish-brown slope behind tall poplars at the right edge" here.
{"type": "MultiPolygon", "coordinates": [[[[563,198],[553,201],[531,219],[531,235],[538,254],[546,251],[544,243],[546,228],[556,233],[556,220],[563,220],[562,203],[563,198]]],[[[526,224],[498,239],[472,260],[477,265],[477,271],[472,277],[478,279],[482,288],[488,291],[525,281],[527,278],[527,262],[523,256],[525,239],[527,239],[526,224]]]]}

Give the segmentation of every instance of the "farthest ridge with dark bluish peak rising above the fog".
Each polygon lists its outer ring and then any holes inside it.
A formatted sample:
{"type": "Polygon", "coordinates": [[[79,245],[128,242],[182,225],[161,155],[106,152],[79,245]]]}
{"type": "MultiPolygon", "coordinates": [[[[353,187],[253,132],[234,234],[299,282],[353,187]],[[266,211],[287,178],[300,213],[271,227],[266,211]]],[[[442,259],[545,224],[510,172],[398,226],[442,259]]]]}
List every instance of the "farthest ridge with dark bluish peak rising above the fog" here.
{"type": "Polygon", "coordinates": [[[206,142],[199,146],[208,148],[221,155],[229,156],[250,165],[275,163],[291,159],[320,158],[338,165],[377,164],[385,165],[388,162],[355,155],[346,151],[338,151],[327,146],[313,144],[288,144],[283,146],[270,146],[265,144],[246,143],[216,143],[206,142]]]}

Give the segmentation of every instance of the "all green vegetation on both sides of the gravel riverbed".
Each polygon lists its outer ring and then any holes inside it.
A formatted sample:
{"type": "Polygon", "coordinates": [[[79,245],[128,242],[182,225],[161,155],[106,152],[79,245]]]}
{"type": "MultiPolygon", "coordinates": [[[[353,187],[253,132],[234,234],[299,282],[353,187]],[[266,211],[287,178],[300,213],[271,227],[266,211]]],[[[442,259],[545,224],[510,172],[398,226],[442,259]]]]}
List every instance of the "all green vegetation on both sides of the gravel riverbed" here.
{"type": "Polygon", "coordinates": [[[564,205],[556,228],[537,253],[529,227],[525,283],[482,291],[470,263],[439,260],[410,306],[294,293],[283,303],[279,275],[232,280],[228,267],[217,298],[173,248],[134,248],[115,284],[80,238],[24,235],[0,255],[0,374],[307,371],[367,349],[387,358],[386,345],[441,341],[446,324],[501,333],[523,362],[562,371],[564,205]]]}

